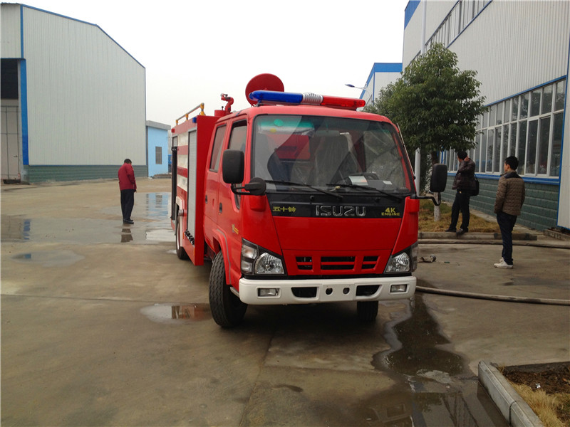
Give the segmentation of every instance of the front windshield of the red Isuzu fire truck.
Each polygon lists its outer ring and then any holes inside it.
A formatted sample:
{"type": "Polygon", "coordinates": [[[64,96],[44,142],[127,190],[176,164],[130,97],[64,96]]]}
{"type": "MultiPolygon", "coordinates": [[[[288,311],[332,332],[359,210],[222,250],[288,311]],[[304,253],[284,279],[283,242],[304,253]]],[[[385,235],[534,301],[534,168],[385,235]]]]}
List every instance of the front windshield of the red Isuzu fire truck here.
{"type": "MultiPolygon", "coordinates": [[[[263,115],[254,122],[252,176],[275,189],[279,181],[314,187],[354,186],[410,193],[405,148],[385,122],[295,115],[263,115]]],[[[350,190],[351,191],[351,190],[350,190]]]]}

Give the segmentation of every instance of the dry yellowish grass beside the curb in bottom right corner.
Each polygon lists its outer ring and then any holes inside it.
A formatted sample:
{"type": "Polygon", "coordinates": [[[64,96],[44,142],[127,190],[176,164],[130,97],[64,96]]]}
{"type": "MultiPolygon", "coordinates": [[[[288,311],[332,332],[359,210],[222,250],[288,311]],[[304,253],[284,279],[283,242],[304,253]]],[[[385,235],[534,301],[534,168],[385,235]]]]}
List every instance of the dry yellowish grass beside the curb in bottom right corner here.
{"type": "Polygon", "coordinates": [[[517,393],[529,404],[545,427],[568,427],[569,423],[561,421],[558,413],[570,407],[570,394],[546,394],[544,390],[533,390],[526,384],[511,383],[517,393]]]}

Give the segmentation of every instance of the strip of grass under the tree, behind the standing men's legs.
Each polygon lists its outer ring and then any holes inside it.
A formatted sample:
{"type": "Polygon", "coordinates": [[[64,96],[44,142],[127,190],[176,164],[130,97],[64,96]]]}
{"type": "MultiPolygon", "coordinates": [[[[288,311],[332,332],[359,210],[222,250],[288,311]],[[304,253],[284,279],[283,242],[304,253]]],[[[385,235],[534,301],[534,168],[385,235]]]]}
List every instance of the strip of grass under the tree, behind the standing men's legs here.
{"type": "MultiPolygon", "coordinates": [[[[424,233],[441,232],[447,230],[451,222],[451,206],[442,203],[440,205],[440,221],[433,221],[433,202],[430,200],[420,201],[420,231],[424,233]]],[[[460,221],[457,226],[461,225],[460,221]]],[[[497,222],[487,221],[484,218],[471,214],[469,221],[470,233],[500,233],[497,222]]]]}

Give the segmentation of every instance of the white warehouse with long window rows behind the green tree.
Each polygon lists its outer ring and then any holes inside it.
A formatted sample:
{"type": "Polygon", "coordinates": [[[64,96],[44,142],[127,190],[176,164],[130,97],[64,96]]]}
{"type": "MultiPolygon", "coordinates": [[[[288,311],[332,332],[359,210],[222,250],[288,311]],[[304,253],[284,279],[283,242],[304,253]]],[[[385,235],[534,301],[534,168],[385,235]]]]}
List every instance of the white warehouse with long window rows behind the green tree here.
{"type": "MultiPolygon", "coordinates": [[[[481,183],[471,206],[493,213],[502,164],[515,155],[527,187],[517,222],[570,228],[570,1],[409,1],[403,68],[422,43],[435,42],[457,53],[460,69],[477,71],[489,106],[470,152],[481,183]]],[[[444,153],[442,161],[451,184],[457,157],[444,153]]],[[[452,200],[448,187],[444,197],[452,200]]]]}

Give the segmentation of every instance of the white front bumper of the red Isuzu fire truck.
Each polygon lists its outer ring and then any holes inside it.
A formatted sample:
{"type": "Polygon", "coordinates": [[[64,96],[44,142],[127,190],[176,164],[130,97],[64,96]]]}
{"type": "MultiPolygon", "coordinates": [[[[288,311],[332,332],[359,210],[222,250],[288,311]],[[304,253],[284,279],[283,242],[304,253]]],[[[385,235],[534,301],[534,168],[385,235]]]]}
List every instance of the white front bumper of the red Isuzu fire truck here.
{"type": "Polygon", "coordinates": [[[415,277],[412,275],[394,278],[239,280],[239,299],[252,305],[400,300],[412,297],[414,292],[415,277]],[[370,287],[375,285],[378,285],[378,289],[371,292],[370,287]],[[390,292],[393,285],[405,285],[405,292],[390,292]],[[366,288],[359,288],[363,286],[366,288]],[[275,290],[276,295],[260,296],[268,289],[275,290]],[[366,295],[357,295],[362,293],[366,295]]]}

